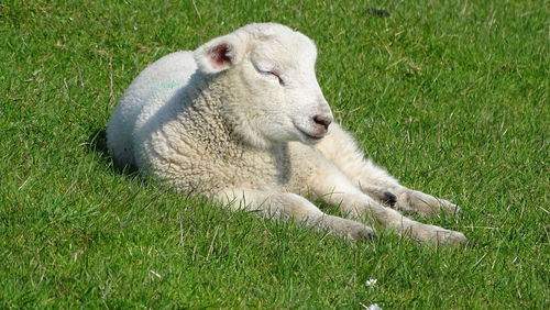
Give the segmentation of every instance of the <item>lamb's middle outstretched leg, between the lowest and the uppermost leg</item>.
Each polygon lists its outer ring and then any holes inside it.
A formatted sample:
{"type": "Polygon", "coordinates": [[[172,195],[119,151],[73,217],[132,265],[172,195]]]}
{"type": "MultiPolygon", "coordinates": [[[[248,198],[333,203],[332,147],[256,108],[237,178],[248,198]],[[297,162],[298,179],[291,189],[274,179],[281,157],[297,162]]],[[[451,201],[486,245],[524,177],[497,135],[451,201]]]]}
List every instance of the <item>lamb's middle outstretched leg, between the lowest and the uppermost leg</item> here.
{"type": "Polygon", "coordinates": [[[327,203],[340,206],[342,212],[352,219],[372,217],[382,226],[422,243],[468,242],[468,239],[460,232],[414,221],[394,209],[380,204],[359,190],[345,175],[336,168],[328,167],[318,171],[309,186],[320,199],[327,203]]]}

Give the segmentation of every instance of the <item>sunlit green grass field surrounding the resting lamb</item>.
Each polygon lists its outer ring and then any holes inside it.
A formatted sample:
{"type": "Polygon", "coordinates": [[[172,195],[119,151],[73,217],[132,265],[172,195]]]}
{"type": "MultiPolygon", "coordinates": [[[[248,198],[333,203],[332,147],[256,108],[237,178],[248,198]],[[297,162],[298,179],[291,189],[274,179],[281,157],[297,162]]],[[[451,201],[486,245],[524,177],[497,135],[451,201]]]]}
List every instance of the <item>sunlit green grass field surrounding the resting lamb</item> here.
{"type": "Polygon", "coordinates": [[[549,309],[549,8],[3,0],[0,308],[549,309]],[[380,228],[346,243],[112,168],[105,125],[130,81],[254,21],[316,41],[337,119],[403,184],[459,203],[422,221],[468,246],[380,228]]]}

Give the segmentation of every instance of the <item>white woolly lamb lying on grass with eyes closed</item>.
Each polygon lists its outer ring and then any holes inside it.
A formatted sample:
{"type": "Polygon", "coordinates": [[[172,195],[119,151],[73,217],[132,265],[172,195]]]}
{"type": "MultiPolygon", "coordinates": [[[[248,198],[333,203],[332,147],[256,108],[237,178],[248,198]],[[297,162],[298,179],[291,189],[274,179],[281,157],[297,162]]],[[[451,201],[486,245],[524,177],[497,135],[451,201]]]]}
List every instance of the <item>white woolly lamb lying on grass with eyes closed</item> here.
{"type": "Polygon", "coordinates": [[[317,82],[317,48],[280,24],[249,24],[145,68],[109,120],[119,167],[231,209],[289,218],[345,240],[372,239],[371,218],[421,243],[459,244],[455,231],[402,212],[459,207],[400,185],[334,123],[317,82]],[[339,206],[322,212],[305,197],[339,206]]]}

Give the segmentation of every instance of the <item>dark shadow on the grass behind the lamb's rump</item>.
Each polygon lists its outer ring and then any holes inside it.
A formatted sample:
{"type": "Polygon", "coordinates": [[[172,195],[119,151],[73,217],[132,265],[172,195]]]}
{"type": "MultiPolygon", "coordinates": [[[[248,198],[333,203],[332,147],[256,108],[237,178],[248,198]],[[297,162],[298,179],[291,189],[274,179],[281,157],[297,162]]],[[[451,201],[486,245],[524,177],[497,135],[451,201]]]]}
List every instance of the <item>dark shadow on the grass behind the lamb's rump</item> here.
{"type": "Polygon", "coordinates": [[[139,176],[138,169],[133,166],[118,167],[109,154],[107,147],[107,131],[105,128],[95,130],[87,140],[87,151],[99,156],[106,168],[114,174],[121,174],[130,178],[139,176]]]}

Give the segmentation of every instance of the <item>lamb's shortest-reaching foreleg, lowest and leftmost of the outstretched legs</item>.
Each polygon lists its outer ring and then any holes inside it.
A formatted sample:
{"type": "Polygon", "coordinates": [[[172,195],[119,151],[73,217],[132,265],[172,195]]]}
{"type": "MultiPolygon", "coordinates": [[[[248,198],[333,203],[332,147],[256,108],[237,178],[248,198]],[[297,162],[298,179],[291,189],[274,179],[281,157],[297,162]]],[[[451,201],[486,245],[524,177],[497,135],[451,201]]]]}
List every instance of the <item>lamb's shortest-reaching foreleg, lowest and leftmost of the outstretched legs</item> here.
{"type": "Polygon", "coordinates": [[[306,198],[292,192],[228,189],[215,198],[235,210],[258,211],[270,219],[290,218],[306,226],[327,229],[345,240],[375,237],[373,229],[356,221],[326,214],[306,198]]]}

